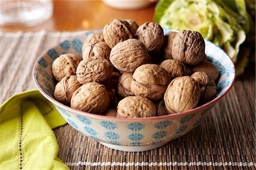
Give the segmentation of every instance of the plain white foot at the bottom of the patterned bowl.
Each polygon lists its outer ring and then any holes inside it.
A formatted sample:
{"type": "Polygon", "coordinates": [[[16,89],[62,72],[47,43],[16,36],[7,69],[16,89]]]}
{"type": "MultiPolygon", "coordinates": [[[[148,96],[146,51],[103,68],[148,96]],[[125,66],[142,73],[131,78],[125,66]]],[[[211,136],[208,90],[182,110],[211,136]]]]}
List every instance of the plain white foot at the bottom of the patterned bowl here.
{"type": "Polygon", "coordinates": [[[155,148],[161,147],[164,144],[167,144],[168,142],[155,144],[151,146],[119,146],[119,145],[109,144],[104,142],[100,142],[100,143],[114,150],[125,151],[125,152],[142,152],[142,151],[154,150],[155,148]]]}

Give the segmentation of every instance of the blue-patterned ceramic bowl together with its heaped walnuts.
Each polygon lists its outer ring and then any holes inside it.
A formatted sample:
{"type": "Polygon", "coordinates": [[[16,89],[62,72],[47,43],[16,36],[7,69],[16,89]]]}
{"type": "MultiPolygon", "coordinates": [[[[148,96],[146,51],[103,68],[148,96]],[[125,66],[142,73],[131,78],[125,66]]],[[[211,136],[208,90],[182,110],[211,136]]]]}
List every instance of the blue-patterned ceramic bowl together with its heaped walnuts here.
{"type": "Polygon", "coordinates": [[[122,19],[49,48],[33,69],[39,92],[69,125],[122,151],[186,134],[235,76],[230,57],[199,32],[122,19]]]}

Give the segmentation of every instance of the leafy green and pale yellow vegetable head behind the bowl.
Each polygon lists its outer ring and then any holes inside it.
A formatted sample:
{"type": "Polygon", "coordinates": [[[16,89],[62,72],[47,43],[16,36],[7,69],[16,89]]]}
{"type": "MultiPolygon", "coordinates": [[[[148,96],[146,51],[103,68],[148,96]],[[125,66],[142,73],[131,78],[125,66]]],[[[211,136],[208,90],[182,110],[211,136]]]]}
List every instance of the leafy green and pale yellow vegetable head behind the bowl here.
{"type": "Polygon", "coordinates": [[[194,30],[220,46],[234,62],[241,60],[240,72],[249,52],[238,55],[250,30],[244,0],[160,0],[155,9],[155,22],[164,28],[194,30]]]}

